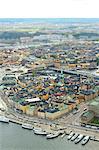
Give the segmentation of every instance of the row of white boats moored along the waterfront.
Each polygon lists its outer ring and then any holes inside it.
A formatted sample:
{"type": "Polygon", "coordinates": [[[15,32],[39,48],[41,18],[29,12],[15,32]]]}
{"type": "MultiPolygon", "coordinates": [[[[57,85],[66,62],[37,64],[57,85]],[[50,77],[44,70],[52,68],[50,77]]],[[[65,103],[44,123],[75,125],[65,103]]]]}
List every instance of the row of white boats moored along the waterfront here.
{"type": "MultiPolygon", "coordinates": [[[[0,121],[2,123],[9,123],[12,122],[10,119],[4,117],[4,116],[0,116],[0,121]]],[[[61,138],[65,138],[65,136],[67,136],[67,140],[71,140],[74,141],[75,144],[78,144],[79,142],[81,142],[81,145],[85,145],[88,143],[89,140],[91,141],[97,141],[99,142],[99,139],[96,138],[95,136],[89,136],[89,135],[83,135],[80,133],[75,133],[73,131],[69,131],[69,130],[64,130],[64,131],[54,131],[54,130],[49,130],[49,131],[45,131],[44,129],[40,128],[40,127],[34,127],[31,124],[28,123],[22,123],[22,122],[18,122],[16,120],[13,120],[13,123],[19,124],[21,125],[22,128],[24,129],[28,129],[28,130],[33,130],[33,133],[35,135],[42,135],[42,136],[46,136],[46,139],[54,139],[57,138],[59,135],[61,135],[61,138]],[[50,133],[51,132],[51,133],[50,133]]],[[[65,128],[64,128],[65,129],[65,128]]]]}

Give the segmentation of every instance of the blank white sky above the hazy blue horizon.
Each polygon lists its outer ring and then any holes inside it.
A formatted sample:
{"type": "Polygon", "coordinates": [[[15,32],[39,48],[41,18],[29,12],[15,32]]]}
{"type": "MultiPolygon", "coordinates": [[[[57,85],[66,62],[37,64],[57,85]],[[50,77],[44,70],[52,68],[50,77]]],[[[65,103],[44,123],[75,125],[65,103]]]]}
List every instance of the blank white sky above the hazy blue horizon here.
{"type": "Polygon", "coordinates": [[[99,0],[0,0],[0,18],[99,18],[99,0]]]}

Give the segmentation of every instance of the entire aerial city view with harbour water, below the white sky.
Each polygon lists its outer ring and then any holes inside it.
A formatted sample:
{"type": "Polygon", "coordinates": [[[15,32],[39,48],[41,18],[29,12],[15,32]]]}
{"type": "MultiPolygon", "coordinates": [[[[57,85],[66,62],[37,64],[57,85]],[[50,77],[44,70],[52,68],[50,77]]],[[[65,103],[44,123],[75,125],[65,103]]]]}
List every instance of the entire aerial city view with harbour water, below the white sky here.
{"type": "Polygon", "coordinates": [[[2,150],[99,149],[99,19],[0,19],[0,132],[2,150]]]}

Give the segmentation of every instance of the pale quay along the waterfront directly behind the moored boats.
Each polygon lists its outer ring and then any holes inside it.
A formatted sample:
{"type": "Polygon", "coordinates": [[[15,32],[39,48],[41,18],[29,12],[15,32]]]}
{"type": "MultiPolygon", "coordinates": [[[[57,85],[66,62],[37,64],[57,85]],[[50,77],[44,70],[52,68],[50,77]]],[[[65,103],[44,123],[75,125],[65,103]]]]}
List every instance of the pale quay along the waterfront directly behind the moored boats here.
{"type": "MultiPolygon", "coordinates": [[[[40,124],[39,120],[35,124],[34,123],[35,120],[33,122],[29,118],[28,118],[28,121],[27,121],[27,118],[23,118],[23,117],[17,118],[17,116],[14,113],[12,113],[12,115],[11,114],[7,115],[7,114],[4,114],[4,112],[1,112],[1,115],[5,115],[7,118],[9,118],[9,121],[12,123],[16,123],[19,125],[22,125],[23,123],[29,123],[29,124],[33,125],[33,127],[40,127],[48,133],[54,133],[55,132],[49,124],[44,124],[43,122],[42,122],[42,124],[40,124]]],[[[65,132],[66,135],[69,135],[70,131],[73,131],[73,132],[78,133],[78,134],[89,135],[90,137],[95,137],[95,138],[92,138],[92,140],[99,142],[99,132],[97,132],[94,129],[85,129],[85,128],[80,127],[80,126],[74,126],[74,125],[62,124],[62,123],[60,124],[60,126],[61,126],[62,130],[59,130],[59,128],[57,128],[57,131],[65,132]]]]}

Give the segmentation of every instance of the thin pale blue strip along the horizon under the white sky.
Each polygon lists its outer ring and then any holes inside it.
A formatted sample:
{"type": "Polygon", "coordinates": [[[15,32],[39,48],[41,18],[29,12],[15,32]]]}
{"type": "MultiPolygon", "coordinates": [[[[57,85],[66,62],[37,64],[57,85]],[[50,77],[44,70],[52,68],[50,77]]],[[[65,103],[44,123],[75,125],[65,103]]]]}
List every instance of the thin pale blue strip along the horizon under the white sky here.
{"type": "Polygon", "coordinates": [[[0,23],[99,23],[99,18],[0,18],[0,23]]]}

